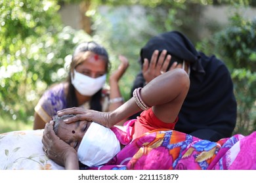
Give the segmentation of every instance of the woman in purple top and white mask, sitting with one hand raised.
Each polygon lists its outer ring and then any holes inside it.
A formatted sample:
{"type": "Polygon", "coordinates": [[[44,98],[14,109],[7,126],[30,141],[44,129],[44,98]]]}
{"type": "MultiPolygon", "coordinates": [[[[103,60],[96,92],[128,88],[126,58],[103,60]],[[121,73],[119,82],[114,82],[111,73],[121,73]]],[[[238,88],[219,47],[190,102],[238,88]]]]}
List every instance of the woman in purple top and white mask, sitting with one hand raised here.
{"type": "Polygon", "coordinates": [[[68,107],[83,107],[98,111],[114,110],[123,104],[118,81],[129,66],[127,58],[119,56],[121,64],[104,88],[110,61],[106,49],[96,42],[82,42],[72,56],[70,73],[65,82],[49,88],[35,107],[33,129],[43,129],[51,116],[68,107]]]}

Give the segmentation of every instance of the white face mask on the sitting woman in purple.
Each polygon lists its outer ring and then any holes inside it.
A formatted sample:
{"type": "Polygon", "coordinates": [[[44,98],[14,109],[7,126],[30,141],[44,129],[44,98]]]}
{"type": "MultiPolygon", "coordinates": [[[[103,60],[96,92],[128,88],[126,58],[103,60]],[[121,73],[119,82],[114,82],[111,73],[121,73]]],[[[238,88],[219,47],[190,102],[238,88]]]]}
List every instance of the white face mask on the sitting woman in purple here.
{"type": "Polygon", "coordinates": [[[71,76],[71,82],[81,95],[92,96],[104,86],[106,82],[106,74],[98,78],[91,78],[78,73],[74,69],[74,77],[71,76]]]}

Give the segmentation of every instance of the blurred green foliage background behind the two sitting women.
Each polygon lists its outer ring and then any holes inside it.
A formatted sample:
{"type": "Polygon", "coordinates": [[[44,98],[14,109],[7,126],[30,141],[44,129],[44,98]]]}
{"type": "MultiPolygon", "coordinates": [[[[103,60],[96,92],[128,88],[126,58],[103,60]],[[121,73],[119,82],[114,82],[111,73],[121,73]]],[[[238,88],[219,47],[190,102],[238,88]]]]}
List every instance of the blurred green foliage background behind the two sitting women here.
{"type": "Polygon", "coordinates": [[[127,56],[130,67],[120,86],[125,99],[129,99],[140,69],[140,48],[152,35],[172,29],[186,33],[199,50],[225,61],[238,100],[236,132],[255,130],[255,21],[243,18],[235,7],[254,4],[237,2],[0,0],[0,133],[32,129],[33,107],[47,87],[66,78],[72,50],[81,41],[94,40],[104,45],[112,71],[119,64],[118,55],[127,56]],[[70,2],[89,3],[91,35],[62,24],[58,10],[70,2]],[[230,24],[209,25],[211,37],[201,40],[196,18],[201,16],[202,7],[230,3],[236,9],[235,14],[230,14],[230,24]],[[99,5],[108,8],[100,12],[99,5]],[[135,5],[144,7],[145,12],[131,16],[135,5]],[[135,24],[134,19],[140,24],[135,24]]]}

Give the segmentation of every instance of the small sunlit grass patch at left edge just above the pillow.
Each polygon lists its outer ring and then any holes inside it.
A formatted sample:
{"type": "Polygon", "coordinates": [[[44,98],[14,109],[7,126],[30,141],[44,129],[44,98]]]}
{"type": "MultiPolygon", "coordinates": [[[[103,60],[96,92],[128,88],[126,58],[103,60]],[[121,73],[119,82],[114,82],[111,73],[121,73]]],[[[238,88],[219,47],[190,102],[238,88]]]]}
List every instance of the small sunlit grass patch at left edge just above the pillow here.
{"type": "Polygon", "coordinates": [[[0,133],[27,129],[33,129],[33,122],[25,123],[22,120],[12,120],[9,116],[0,116],[0,133]]]}

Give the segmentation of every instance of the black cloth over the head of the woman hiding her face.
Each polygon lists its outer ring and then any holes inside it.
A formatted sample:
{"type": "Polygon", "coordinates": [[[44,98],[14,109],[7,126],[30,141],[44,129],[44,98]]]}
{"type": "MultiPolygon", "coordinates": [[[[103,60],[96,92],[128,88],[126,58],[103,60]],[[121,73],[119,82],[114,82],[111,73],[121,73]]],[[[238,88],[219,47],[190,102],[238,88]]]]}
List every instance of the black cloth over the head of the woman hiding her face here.
{"type": "Polygon", "coordinates": [[[188,61],[192,71],[196,71],[198,74],[205,73],[201,64],[200,54],[196,51],[192,42],[179,31],[170,31],[152,37],[140,50],[140,61],[143,63],[144,58],[150,61],[154,50],[159,50],[160,52],[167,50],[167,54],[172,56],[171,63],[173,61],[178,61],[178,63],[182,63],[183,60],[188,61]]]}

